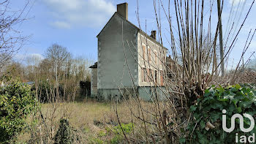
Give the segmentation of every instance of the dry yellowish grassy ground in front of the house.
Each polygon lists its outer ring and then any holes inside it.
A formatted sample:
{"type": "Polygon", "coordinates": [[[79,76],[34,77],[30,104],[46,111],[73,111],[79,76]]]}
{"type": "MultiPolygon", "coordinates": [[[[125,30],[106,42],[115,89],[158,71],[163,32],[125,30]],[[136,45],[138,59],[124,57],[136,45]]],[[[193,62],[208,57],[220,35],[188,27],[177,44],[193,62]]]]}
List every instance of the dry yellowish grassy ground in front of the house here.
{"type": "MultiPolygon", "coordinates": [[[[134,125],[129,109],[120,104],[117,110],[122,128],[127,135],[132,134],[134,125]]],[[[80,137],[79,143],[120,143],[124,140],[118,126],[116,104],[93,101],[41,104],[41,113],[43,118],[38,115],[28,119],[30,123],[32,119],[39,121],[34,124],[34,130],[18,136],[19,143],[52,143],[61,118],[68,119],[80,137]]]]}

